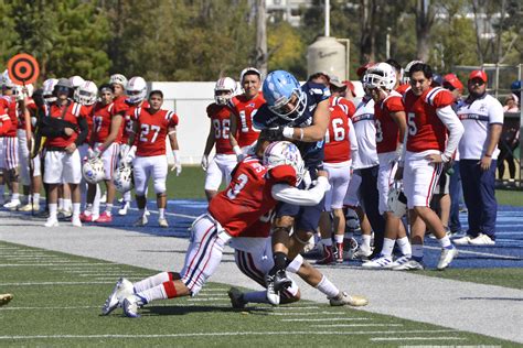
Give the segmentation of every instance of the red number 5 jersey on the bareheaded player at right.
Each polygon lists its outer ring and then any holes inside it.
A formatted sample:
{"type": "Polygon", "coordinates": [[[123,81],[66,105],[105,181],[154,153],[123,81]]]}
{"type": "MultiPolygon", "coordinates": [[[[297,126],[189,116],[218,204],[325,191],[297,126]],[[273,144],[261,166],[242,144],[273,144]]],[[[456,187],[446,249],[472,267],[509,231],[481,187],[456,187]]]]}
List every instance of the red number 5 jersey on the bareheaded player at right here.
{"type": "Polygon", "coordinates": [[[436,113],[436,109],[452,105],[450,91],[441,87],[428,88],[420,96],[412,89],[404,96],[407,115],[407,151],[445,151],[447,128],[436,113]]]}

